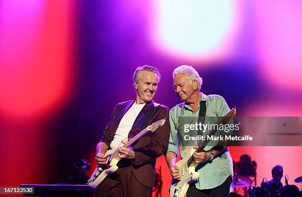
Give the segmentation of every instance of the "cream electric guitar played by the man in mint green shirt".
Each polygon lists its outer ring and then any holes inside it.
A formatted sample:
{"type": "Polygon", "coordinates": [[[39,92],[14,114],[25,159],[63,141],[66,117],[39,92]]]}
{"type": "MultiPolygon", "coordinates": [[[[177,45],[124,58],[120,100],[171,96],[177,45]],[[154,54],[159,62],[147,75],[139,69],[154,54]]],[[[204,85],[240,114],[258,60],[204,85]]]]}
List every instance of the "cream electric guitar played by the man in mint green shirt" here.
{"type": "MultiPolygon", "coordinates": [[[[223,118],[221,118],[218,123],[226,124],[231,117],[236,115],[236,107],[232,108],[223,118]]],[[[209,133],[209,136],[214,135],[217,130],[212,130],[209,133]]],[[[204,140],[197,149],[190,147],[186,157],[181,159],[176,163],[176,166],[179,167],[181,174],[181,180],[177,181],[172,179],[170,186],[170,197],[184,197],[189,189],[189,185],[197,180],[199,173],[195,172],[195,168],[198,163],[195,162],[193,158],[193,153],[196,151],[200,153],[204,150],[205,146],[209,143],[210,140],[204,140]]]]}

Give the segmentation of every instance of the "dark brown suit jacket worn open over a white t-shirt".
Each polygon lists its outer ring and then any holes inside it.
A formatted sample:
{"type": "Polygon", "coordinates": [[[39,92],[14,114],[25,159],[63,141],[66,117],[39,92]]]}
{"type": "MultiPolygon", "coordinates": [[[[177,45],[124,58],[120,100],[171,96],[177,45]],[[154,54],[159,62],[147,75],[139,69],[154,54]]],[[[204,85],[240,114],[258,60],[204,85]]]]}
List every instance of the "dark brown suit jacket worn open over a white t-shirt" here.
{"type": "MultiPolygon", "coordinates": [[[[134,102],[135,100],[126,101],[118,103],[115,106],[111,120],[107,124],[101,139],[101,142],[106,143],[109,148],[121,118],[123,118],[134,102]]],[[[133,125],[136,124],[139,118],[144,116],[152,104],[153,101],[146,103],[133,125]]],[[[163,118],[167,118],[163,126],[160,126],[153,133],[148,132],[132,146],[135,152],[135,159],[131,160],[132,172],[141,184],[150,188],[154,185],[156,158],[163,155],[168,147],[170,136],[169,108],[164,105],[159,105],[147,123],[147,125],[150,125],[163,118]]]]}

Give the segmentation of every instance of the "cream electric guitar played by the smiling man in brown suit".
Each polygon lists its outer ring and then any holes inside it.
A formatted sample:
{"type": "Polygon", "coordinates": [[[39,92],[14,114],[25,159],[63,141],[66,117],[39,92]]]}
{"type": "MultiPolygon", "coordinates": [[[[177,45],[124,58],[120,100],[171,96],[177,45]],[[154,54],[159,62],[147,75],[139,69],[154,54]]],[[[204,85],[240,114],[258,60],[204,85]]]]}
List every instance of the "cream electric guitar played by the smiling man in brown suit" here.
{"type": "MultiPolygon", "coordinates": [[[[124,139],[125,141],[127,141],[127,143],[120,143],[118,147],[123,146],[125,148],[128,148],[149,131],[154,132],[159,126],[164,125],[165,121],[166,118],[160,119],[152,123],[150,126],[147,126],[142,131],[140,129],[130,131],[128,137],[124,139]]],[[[112,174],[117,170],[117,163],[121,160],[121,158],[118,157],[118,147],[107,151],[105,154],[106,164],[99,165],[92,173],[91,178],[88,180],[88,185],[91,188],[96,188],[106,178],[107,175],[112,174]]]]}

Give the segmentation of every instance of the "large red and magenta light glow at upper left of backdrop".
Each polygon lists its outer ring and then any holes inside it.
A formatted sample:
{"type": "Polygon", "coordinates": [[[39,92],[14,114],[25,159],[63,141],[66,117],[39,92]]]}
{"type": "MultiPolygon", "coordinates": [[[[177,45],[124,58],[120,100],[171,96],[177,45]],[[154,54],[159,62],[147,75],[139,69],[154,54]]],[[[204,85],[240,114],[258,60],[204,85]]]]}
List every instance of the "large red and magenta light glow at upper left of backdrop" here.
{"type": "Polygon", "coordinates": [[[1,2],[0,111],[7,115],[53,110],[72,87],[71,6],[41,2],[1,2]]]}

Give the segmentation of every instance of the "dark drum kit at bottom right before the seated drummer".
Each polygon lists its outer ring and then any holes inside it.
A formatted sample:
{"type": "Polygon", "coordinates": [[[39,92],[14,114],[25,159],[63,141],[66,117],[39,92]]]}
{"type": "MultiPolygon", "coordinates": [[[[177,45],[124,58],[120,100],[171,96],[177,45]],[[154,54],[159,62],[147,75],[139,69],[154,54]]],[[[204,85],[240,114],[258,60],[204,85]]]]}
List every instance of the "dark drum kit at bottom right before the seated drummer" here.
{"type": "MultiPolygon", "coordinates": [[[[252,180],[244,175],[234,174],[233,185],[236,188],[247,188],[252,185],[252,180]]],[[[295,179],[296,183],[302,183],[302,176],[295,179]]],[[[269,191],[264,187],[250,187],[246,197],[269,197],[269,191]]],[[[230,197],[242,197],[236,193],[230,193],[230,197]]],[[[287,184],[277,191],[277,197],[302,197],[302,188],[300,191],[296,185],[287,184]]]]}

